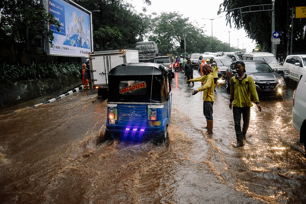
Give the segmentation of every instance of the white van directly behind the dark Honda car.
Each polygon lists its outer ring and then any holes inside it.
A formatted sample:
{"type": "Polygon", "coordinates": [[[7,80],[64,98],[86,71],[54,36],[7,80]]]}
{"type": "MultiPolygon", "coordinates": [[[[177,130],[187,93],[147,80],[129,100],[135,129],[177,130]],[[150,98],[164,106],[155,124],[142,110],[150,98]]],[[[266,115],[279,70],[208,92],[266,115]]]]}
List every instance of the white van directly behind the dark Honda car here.
{"type": "Polygon", "coordinates": [[[261,60],[265,61],[269,66],[284,79],[289,79],[289,69],[278,64],[275,56],[269,52],[246,52],[242,55],[241,60],[261,60]]]}

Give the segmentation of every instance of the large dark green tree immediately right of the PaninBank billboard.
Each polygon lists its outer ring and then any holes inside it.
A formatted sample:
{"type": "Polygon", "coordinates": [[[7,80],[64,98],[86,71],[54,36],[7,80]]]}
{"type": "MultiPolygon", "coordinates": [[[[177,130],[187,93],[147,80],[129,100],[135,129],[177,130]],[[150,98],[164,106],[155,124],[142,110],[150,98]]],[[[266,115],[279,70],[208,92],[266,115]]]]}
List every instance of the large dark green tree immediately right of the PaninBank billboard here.
{"type": "MultiPolygon", "coordinates": [[[[150,1],[144,1],[149,3],[150,1]]],[[[93,31],[100,28],[107,29],[118,28],[121,38],[114,39],[114,49],[135,49],[137,38],[142,36],[147,29],[144,20],[133,11],[131,4],[120,0],[80,0],[77,2],[88,10],[99,10],[93,12],[93,31]]],[[[97,35],[94,35],[94,42],[99,41],[97,35]]],[[[110,47],[109,47],[110,48],[110,47]]],[[[100,50],[108,49],[108,47],[99,47],[100,50]]]]}

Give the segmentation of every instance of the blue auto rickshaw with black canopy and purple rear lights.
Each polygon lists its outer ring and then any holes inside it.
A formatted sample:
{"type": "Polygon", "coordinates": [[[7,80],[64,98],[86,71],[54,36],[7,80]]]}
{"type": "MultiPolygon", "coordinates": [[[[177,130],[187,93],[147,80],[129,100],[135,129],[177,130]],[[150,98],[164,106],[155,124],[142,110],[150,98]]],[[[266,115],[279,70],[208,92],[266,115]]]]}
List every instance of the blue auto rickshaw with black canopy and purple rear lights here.
{"type": "Polygon", "coordinates": [[[174,73],[161,64],[128,63],[108,74],[106,139],[162,143],[168,137],[174,73]]]}

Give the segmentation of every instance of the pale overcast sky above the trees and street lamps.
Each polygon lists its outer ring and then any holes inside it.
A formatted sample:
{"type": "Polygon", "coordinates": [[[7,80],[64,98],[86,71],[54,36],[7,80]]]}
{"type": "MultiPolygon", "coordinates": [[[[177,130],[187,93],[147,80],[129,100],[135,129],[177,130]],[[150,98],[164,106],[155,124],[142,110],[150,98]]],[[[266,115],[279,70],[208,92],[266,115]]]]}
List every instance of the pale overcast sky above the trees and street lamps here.
{"type": "MultiPolygon", "coordinates": [[[[143,13],[142,8],[147,8],[147,14],[156,12],[158,15],[162,12],[178,12],[183,13],[183,17],[189,17],[191,22],[197,21],[199,25],[204,25],[203,28],[205,35],[211,37],[211,20],[205,20],[202,18],[213,19],[213,37],[218,38],[224,43],[229,42],[230,37],[230,46],[237,47],[239,43],[239,49],[245,48],[246,51],[252,52],[252,49],[255,48],[255,41],[252,42],[252,39],[249,39],[246,36],[246,32],[243,29],[237,30],[234,28],[232,23],[232,28],[229,25],[226,26],[225,14],[226,12],[217,15],[220,4],[223,0],[151,0],[151,6],[144,4],[143,0],[127,0],[127,2],[132,3],[135,6],[135,10],[138,13],[143,13]],[[223,16],[223,17],[220,17],[223,16]],[[219,17],[219,18],[217,18],[219,17]],[[230,31],[230,36],[229,36],[230,31]],[[239,39],[239,40],[238,40],[239,39]]],[[[195,25],[195,24],[194,24],[195,25]]],[[[209,51],[209,50],[206,50],[209,51]]],[[[221,51],[221,50],[219,50],[221,51]]],[[[228,50],[222,50],[228,51],[228,50]]]]}

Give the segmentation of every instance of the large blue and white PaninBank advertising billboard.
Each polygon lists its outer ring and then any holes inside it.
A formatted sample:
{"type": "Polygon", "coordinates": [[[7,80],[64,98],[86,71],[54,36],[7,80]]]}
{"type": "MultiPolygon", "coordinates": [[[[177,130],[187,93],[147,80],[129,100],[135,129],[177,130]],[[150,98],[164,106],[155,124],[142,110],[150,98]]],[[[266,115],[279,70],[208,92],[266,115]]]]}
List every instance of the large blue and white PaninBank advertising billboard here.
{"type": "Polygon", "coordinates": [[[49,25],[54,41],[47,43],[47,54],[88,57],[93,44],[91,12],[69,0],[45,0],[44,6],[61,24],[60,28],[49,25]]]}

